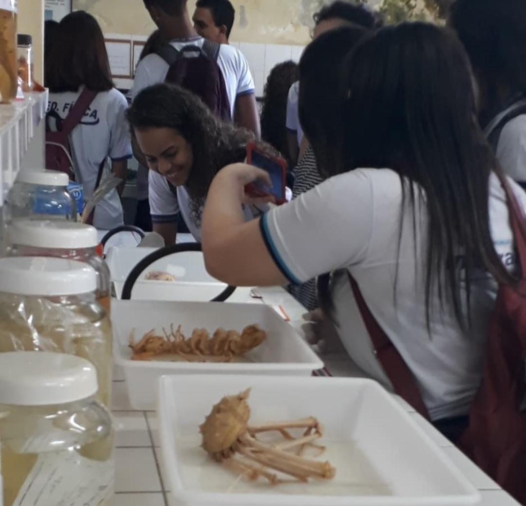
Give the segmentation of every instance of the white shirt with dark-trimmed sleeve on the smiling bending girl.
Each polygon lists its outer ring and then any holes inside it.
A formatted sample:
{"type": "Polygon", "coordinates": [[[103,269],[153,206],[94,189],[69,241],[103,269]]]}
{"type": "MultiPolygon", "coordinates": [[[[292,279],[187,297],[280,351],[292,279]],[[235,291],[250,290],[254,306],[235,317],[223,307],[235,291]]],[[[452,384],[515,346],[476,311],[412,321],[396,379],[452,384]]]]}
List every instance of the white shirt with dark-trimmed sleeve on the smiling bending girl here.
{"type": "MultiPolygon", "coordinates": [[[[150,214],[153,223],[174,223],[177,221],[177,216],[181,213],[183,220],[194,236],[197,242],[201,241],[201,223],[200,216],[196,216],[193,209],[191,209],[190,195],[184,186],[177,186],[176,191],[170,188],[166,177],[161,176],[157,172],[150,171],[149,173],[149,201],[150,214]]],[[[244,206],[245,220],[252,220],[260,213],[252,210],[249,206],[244,206]]]]}

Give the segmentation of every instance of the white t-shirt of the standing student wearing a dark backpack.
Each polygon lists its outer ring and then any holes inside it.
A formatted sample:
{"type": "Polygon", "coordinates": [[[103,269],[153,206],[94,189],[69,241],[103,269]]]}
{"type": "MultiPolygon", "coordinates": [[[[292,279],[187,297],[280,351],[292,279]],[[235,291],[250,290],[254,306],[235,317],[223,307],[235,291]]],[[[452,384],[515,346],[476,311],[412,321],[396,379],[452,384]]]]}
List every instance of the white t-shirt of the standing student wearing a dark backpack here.
{"type": "MultiPolygon", "coordinates": [[[[205,42],[203,37],[195,37],[185,41],[172,41],[170,44],[178,51],[187,45],[202,47],[205,42]]],[[[235,47],[221,44],[217,64],[225,80],[230,112],[234,117],[236,98],[240,95],[253,94],[255,90],[254,80],[248,68],[248,62],[235,47]]],[[[139,62],[135,71],[133,88],[131,88],[131,100],[147,86],[163,83],[168,73],[168,64],[159,55],[150,54],[139,62]]]]}

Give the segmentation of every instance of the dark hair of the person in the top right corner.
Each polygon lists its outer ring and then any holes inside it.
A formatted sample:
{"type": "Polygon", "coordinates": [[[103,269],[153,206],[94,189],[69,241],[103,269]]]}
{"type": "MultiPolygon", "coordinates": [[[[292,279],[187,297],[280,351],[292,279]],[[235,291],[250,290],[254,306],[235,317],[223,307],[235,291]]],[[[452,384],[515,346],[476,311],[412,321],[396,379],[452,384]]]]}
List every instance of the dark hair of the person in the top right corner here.
{"type": "Polygon", "coordinates": [[[513,95],[526,94],[526,2],[457,0],[449,23],[477,74],[485,126],[513,95]]]}

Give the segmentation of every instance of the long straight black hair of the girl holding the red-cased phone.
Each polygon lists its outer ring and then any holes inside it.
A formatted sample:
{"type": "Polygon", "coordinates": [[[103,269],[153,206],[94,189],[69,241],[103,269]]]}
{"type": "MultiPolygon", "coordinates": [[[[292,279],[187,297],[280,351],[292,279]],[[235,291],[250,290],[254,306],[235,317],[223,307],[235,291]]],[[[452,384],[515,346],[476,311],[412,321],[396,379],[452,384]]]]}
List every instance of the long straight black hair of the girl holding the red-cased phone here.
{"type": "Polygon", "coordinates": [[[417,202],[427,209],[428,328],[435,293],[465,328],[478,269],[514,282],[491,237],[489,178],[500,170],[477,122],[466,52],[448,29],[403,23],[366,36],[344,68],[340,162],[325,168],[332,175],[389,167],[400,175],[401,216],[411,210],[415,234],[417,202]]]}

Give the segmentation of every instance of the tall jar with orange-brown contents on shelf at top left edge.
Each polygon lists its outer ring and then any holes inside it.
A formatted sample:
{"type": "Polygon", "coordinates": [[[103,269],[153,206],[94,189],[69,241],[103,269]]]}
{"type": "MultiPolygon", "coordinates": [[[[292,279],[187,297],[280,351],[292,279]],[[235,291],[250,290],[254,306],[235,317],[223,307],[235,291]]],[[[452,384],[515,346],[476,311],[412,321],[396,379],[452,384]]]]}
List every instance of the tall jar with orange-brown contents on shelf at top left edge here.
{"type": "Polygon", "coordinates": [[[16,97],[16,0],[0,0],[0,102],[9,104],[16,97]]]}

